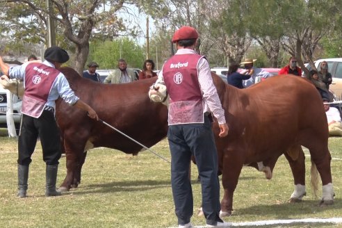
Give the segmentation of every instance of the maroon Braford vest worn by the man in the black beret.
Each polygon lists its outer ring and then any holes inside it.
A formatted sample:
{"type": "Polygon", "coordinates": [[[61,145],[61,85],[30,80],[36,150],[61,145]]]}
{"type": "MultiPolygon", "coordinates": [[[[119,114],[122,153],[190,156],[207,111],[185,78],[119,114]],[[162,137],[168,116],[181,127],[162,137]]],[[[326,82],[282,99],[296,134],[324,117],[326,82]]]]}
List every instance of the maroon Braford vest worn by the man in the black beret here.
{"type": "Polygon", "coordinates": [[[42,115],[47,97],[56,77],[60,74],[54,67],[42,63],[30,63],[25,69],[25,91],[22,113],[38,118],[42,115]]]}

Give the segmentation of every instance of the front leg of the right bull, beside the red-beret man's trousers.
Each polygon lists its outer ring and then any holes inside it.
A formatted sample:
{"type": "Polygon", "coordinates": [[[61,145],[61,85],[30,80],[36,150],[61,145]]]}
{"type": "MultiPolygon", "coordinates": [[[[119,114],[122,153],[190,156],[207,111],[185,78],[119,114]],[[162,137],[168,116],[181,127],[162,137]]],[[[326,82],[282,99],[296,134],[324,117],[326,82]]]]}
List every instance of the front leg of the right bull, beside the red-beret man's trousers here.
{"type": "Polygon", "coordinates": [[[225,192],[221,201],[220,217],[230,216],[233,211],[234,190],[243,168],[242,154],[241,151],[227,152],[222,157],[222,186],[225,192]]]}

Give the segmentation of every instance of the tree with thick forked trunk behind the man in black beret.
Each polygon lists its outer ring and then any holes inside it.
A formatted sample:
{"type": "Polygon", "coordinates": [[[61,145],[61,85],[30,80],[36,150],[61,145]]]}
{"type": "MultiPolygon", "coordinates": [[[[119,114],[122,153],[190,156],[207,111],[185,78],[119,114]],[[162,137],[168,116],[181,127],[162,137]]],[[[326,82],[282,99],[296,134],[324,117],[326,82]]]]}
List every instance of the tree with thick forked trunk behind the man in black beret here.
{"type": "MultiPolygon", "coordinates": [[[[145,1],[128,0],[50,0],[54,9],[49,13],[46,9],[46,1],[42,0],[0,0],[3,6],[3,21],[1,33],[7,32],[14,38],[27,38],[31,42],[45,42],[47,40],[47,15],[56,20],[57,34],[61,35],[58,44],[67,38],[74,44],[74,68],[77,72],[83,72],[89,53],[89,42],[93,33],[97,38],[113,39],[122,34],[135,34],[134,28],[127,31],[124,19],[119,15],[120,10],[128,10],[127,4],[144,9],[145,1]],[[124,5],[126,4],[126,5],[124,5]],[[14,14],[10,14],[14,13],[14,14]],[[15,26],[14,31],[6,26],[15,26]],[[25,32],[24,32],[25,31],[25,32]],[[39,39],[34,41],[32,36],[39,39]]],[[[162,1],[149,1],[150,8],[158,8],[162,1]]],[[[63,45],[59,45],[63,46],[63,45]]],[[[71,45],[70,45],[71,47],[71,45]]]]}

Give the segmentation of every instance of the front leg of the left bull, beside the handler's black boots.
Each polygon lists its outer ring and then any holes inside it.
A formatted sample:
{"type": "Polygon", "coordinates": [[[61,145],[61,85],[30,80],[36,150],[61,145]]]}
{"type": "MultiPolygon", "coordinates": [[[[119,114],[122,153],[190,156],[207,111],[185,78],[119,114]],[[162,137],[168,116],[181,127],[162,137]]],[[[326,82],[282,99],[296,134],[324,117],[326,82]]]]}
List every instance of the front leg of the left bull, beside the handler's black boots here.
{"type": "MultiPolygon", "coordinates": [[[[76,140],[72,138],[72,140],[76,140]]],[[[81,140],[78,140],[81,142],[81,140]]],[[[65,137],[64,145],[65,145],[65,154],[67,160],[67,176],[65,177],[63,184],[60,185],[60,192],[65,192],[70,190],[73,187],[74,182],[76,181],[77,173],[81,168],[79,167],[83,158],[83,149],[85,146],[84,143],[74,143],[69,142],[68,138],[65,137]]]]}

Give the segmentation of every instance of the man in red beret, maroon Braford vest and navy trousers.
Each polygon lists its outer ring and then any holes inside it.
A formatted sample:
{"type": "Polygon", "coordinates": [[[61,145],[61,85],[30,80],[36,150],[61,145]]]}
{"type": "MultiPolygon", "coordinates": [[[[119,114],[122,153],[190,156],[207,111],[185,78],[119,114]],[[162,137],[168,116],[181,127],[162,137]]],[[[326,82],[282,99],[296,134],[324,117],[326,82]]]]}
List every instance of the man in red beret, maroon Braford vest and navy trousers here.
{"type": "Polygon", "coordinates": [[[172,156],[171,184],[179,227],[193,227],[193,193],[188,177],[190,158],[196,159],[202,184],[202,208],[209,227],[226,227],[220,215],[218,157],[211,131],[213,114],[220,126],[220,137],[228,134],[225,111],[213,85],[209,63],[194,49],[198,33],[190,26],[177,30],[172,42],[177,53],[163,65],[158,83],[165,83],[170,95],[168,140],[172,156]]]}

